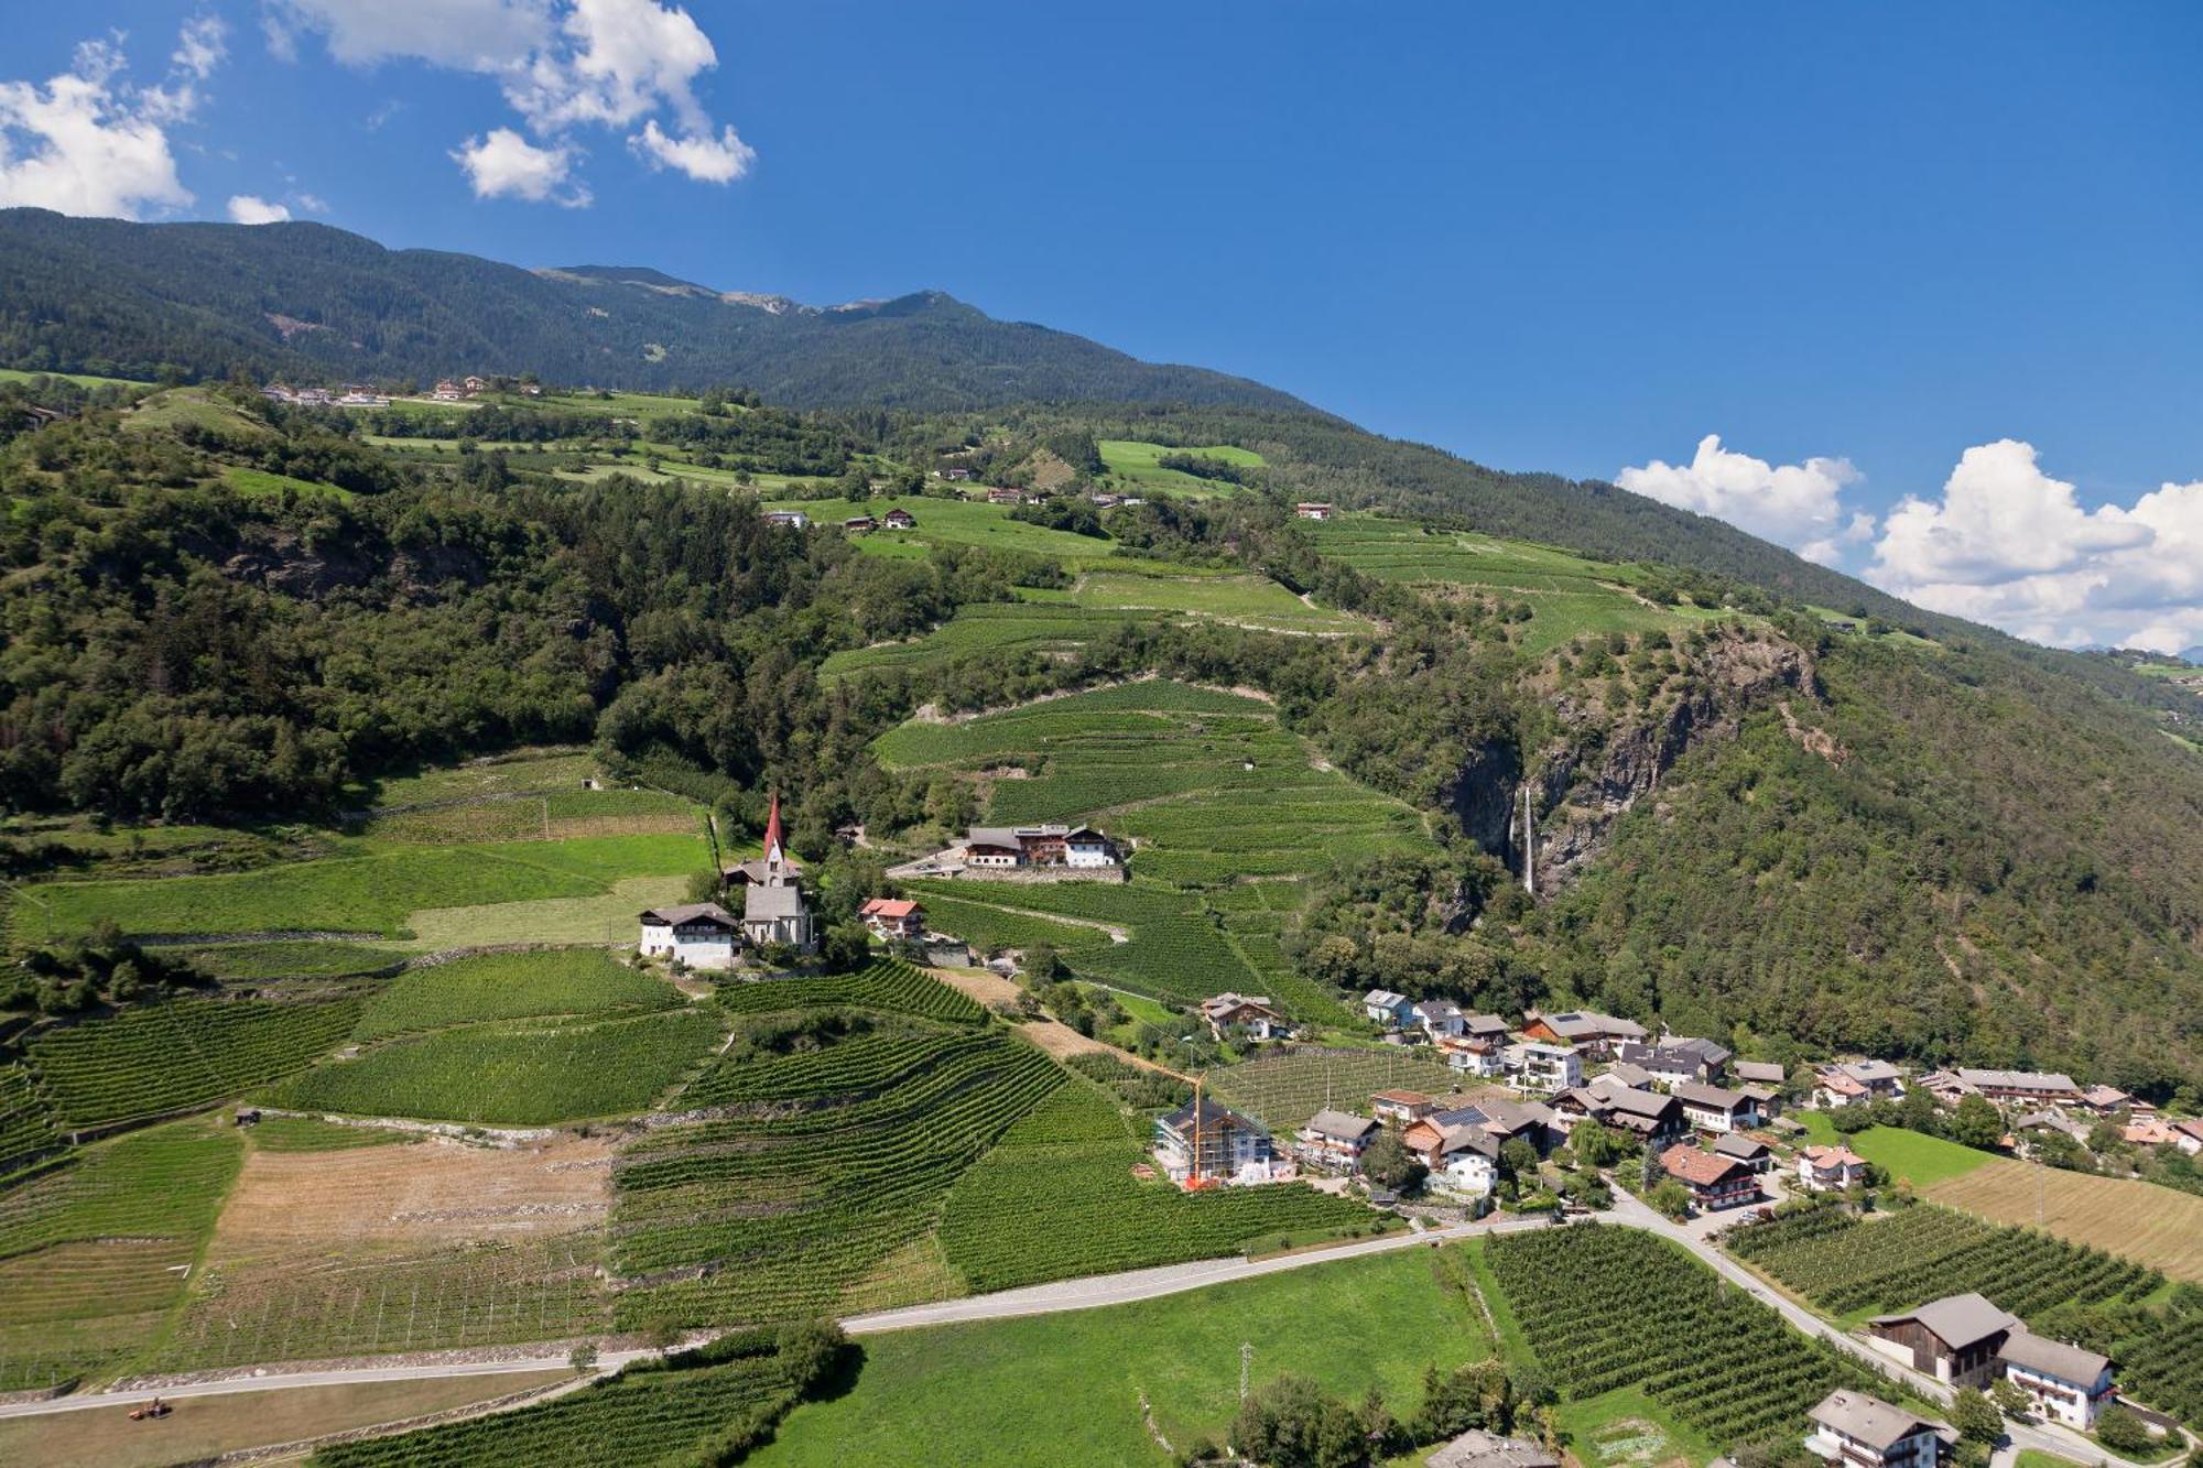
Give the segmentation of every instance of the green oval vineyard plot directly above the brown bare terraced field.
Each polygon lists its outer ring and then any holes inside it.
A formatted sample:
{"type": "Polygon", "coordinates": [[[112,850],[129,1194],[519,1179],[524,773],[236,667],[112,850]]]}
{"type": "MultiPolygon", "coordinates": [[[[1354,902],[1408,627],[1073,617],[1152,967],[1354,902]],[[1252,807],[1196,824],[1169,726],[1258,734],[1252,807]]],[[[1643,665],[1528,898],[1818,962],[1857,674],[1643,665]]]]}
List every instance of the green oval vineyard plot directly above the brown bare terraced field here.
{"type": "Polygon", "coordinates": [[[720,1034],[718,1016],[703,1010],[465,1025],[315,1067],[267,1100],[300,1111],[551,1126],[648,1109],[720,1034]]]}

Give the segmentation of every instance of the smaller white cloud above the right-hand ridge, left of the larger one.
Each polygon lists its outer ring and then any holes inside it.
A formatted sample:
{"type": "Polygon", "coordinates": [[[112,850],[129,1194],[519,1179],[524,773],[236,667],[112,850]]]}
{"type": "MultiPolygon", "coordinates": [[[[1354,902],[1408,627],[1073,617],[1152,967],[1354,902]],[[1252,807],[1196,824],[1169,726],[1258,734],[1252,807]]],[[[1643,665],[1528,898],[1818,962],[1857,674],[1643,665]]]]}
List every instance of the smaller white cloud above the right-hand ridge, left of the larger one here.
{"type": "Polygon", "coordinates": [[[1661,505],[1727,520],[1824,564],[1875,533],[1870,514],[1844,509],[1844,487],[1859,483],[1848,458],[1771,465],[1725,450],[1721,434],[1707,434],[1699,439],[1699,452],[1687,465],[1654,458],[1643,467],[1621,469],[1615,483],[1661,505]]]}

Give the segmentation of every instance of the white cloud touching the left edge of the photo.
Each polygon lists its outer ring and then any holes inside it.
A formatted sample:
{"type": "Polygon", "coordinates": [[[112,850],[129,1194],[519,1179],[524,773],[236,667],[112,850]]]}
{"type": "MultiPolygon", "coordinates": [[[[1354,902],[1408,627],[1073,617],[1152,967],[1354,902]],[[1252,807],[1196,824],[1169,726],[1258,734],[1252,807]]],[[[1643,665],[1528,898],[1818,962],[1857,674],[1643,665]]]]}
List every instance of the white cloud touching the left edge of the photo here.
{"type": "Polygon", "coordinates": [[[95,40],[44,88],[0,82],[0,207],[139,218],[192,203],[167,145],[167,123],[198,106],[192,73],[176,88],[134,88],[121,66],[121,53],[95,40]]]}

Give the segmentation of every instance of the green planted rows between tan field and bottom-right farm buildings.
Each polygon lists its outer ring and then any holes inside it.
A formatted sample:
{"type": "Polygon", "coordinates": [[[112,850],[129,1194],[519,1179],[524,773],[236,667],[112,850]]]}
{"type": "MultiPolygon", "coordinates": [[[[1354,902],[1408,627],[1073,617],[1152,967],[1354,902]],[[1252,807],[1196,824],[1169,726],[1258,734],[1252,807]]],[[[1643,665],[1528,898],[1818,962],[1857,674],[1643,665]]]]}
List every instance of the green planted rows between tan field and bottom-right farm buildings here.
{"type": "Polygon", "coordinates": [[[1862,1221],[1837,1208],[1754,1223],[1729,1252],[1833,1316],[1910,1309],[1978,1289],[2016,1316],[2055,1305],[2133,1300],[2163,1285],[2157,1270],[2031,1228],[1998,1228],[1921,1203],[1862,1221]]]}

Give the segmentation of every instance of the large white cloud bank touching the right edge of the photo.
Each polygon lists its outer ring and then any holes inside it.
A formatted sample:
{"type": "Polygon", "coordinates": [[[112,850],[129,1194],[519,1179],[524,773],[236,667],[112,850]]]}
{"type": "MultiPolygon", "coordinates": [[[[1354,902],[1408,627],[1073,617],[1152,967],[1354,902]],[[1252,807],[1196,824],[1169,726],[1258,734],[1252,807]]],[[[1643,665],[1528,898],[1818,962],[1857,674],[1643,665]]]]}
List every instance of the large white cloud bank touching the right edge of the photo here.
{"type": "Polygon", "coordinates": [[[2203,644],[2203,481],[2082,509],[2033,445],[1983,443],[1888,514],[1866,580],[2033,641],[2177,652],[2203,644]]]}

